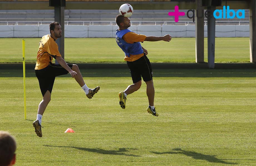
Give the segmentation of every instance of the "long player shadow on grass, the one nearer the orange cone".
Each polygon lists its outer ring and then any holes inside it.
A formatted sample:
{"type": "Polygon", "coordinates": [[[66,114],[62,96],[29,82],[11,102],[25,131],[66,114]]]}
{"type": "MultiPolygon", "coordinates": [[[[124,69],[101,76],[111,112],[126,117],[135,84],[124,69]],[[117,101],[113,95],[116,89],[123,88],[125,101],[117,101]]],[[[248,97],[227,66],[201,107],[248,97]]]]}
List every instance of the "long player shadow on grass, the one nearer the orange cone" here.
{"type": "MultiPolygon", "coordinates": [[[[87,151],[87,152],[93,152],[93,153],[99,153],[99,154],[111,154],[111,155],[125,155],[125,156],[132,156],[132,157],[141,157],[139,155],[133,155],[133,154],[125,154],[125,152],[129,152],[126,150],[126,148],[119,148],[118,151],[111,151],[111,150],[104,150],[100,148],[92,149],[92,148],[85,148],[85,147],[75,147],[75,146],[51,146],[51,145],[43,145],[46,147],[65,147],[65,148],[75,148],[81,151],[87,151]]],[[[137,149],[132,149],[137,150],[137,149]]]]}

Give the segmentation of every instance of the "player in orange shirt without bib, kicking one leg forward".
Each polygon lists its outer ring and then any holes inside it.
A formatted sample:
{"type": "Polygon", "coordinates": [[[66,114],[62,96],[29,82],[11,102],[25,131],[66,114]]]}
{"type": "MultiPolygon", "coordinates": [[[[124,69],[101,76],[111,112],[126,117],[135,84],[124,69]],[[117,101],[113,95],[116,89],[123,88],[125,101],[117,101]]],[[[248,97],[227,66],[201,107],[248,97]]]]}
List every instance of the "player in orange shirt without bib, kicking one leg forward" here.
{"type": "Polygon", "coordinates": [[[65,60],[61,58],[58,45],[55,42],[57,38],[61,37],[60,23],[52,22],[49,27],[50,35],[45,35],[40,40],[35,67],[36,77],[43,95],[43,100],[38,105],[37,118],[33,122],[35,132],[39,137],[42,137],[41,120],[43,113],[51,100],[51,91],[56,76],[69,73],[75,78],[88,98],[92,98],[100,89],[99,86],[94,89],[89,89],[83,80],[78,66],[76,64],[67,64],[65,60]],[[53,58],[58,61],[59,64],[53,64],[53,58]]]}

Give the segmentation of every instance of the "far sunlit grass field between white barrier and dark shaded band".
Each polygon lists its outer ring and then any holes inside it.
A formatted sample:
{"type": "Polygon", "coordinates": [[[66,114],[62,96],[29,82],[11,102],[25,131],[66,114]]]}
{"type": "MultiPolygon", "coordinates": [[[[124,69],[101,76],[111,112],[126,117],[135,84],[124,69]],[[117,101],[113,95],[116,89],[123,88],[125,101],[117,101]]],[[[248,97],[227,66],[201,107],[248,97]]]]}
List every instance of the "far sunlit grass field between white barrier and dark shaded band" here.
{"type": "MultiPolygon", "coordinates": [[[[35,63],[40,38],[26,38],[26,62],[35,63]]],[[[195,38],[144,42],[151,62],[195,62],[195,38]]],[[[207,38],[205,38],[207,62],[207,38]]],[[[65,60],[70,63],[124,62],[114,38],[65,38],[65,60]]],[[[0,38],[0,63],[22,62],[22,39],[0,38]]],[[[249,38],[216,38],[215,62],[250,62],[249,38]]]]}

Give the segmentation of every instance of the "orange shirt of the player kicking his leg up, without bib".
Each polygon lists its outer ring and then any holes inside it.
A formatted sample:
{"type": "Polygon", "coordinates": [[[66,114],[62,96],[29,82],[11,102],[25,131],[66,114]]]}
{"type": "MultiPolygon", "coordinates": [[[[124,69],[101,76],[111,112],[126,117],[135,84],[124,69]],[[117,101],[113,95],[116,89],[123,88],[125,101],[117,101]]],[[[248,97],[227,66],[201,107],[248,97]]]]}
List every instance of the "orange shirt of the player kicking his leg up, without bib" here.
{"type": "Polygon", "coordinates": [[[61,56],[55,39],[50,35],[43,36],[39,42],[35,70],[46,68],[55,56],[61,56]]]}

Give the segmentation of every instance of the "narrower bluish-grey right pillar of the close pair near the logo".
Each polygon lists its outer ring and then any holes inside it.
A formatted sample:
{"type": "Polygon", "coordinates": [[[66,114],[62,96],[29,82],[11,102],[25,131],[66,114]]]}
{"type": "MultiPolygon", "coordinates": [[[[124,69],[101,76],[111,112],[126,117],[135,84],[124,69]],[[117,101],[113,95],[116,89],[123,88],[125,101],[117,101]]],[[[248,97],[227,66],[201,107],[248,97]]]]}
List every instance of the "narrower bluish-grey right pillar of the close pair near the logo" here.
{"type": "Polygon", "coordinates": [[[213,12],[215,6],[208,6],[207,10],[210,12],[207,18],[207,36],[208,36],[208,67],[214,68],[215,63],[215,18],[213,12]]]}

